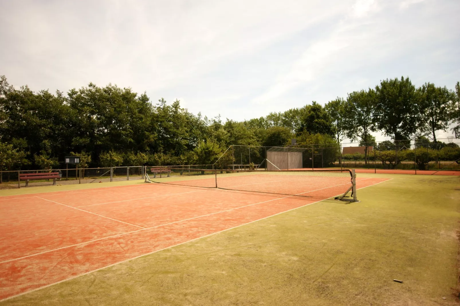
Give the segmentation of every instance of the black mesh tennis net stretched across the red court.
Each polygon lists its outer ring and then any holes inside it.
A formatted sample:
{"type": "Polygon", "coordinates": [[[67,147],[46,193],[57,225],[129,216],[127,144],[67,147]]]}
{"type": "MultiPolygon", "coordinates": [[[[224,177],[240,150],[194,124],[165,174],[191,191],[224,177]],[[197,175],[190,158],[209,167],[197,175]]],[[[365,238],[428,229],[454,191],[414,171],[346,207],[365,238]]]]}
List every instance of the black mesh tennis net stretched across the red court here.
{"type": "MultiPolygon", "coordinates": [[[[156,183],[315,198],[353,196],[350,170],[205,170],[151,168],[156,183]]],[[[147,170],[149,172],[149,170],[147,170]]]]}

